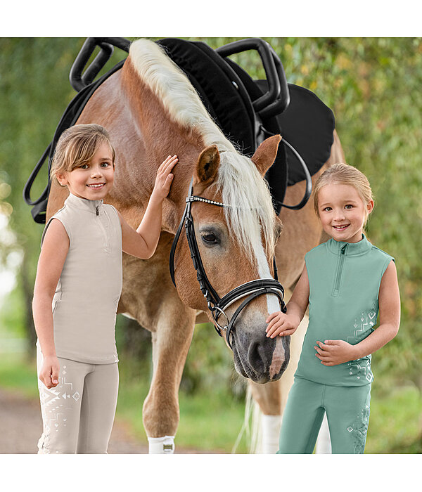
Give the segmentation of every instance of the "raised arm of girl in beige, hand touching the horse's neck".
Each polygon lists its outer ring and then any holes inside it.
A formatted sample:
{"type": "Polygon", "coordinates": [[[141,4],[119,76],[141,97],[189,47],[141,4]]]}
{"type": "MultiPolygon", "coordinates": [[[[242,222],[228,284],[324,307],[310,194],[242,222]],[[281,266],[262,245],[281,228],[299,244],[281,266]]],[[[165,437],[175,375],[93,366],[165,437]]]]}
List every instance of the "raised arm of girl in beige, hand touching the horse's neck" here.
{"type": "Polygon", "coordinates": [[[120,224],[122,224],[122,250],[125,253],[142,259],[153,256],[160,239],[162,202],[170,192],[174,176],[172,169],[177,161],[176,155],[169,155],[158,168],[153,193],[151,193],[145,214],[136,231],[127,224],[122,214],[118,212],[120,224]]]}

